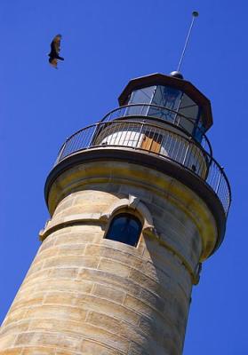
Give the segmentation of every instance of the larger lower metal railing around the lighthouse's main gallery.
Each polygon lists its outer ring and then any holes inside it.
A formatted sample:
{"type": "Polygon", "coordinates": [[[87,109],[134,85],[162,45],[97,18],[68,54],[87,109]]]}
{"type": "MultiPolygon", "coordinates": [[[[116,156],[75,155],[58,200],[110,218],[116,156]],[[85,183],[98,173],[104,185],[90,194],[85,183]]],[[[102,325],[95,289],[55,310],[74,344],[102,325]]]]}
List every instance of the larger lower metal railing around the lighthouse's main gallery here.
{"type": "Polygon", "coordinates": [[[194,139],[151,122],[97,122],[78,130],[61,147],[55,165],[76,152],[105,146],[146,151],[177,162],[212,188],[228,215],[231,201],[228,178],[212,154],[206,152],[194,139]]]}

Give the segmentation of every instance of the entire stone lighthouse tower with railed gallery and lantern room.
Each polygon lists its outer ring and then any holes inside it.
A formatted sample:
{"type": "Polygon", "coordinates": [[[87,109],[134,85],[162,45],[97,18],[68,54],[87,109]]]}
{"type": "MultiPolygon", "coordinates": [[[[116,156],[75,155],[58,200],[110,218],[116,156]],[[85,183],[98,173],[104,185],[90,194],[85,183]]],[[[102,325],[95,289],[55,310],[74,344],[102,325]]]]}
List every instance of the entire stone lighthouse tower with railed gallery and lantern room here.
{"type": "Polygon", "coordinates": [[[51,214],[4,319],[4,355],[180,355],[192,285],[231,200],[210,101],[178,72],[131,80],[45,183],[51,214]]]}

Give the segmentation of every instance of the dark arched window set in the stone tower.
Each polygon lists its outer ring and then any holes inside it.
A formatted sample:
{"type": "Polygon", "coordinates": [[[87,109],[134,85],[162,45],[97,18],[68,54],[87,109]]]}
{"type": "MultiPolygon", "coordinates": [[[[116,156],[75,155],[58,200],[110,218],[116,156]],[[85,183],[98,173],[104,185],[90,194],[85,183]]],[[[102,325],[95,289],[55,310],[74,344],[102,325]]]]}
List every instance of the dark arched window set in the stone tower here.
{"type": "Polygon", "coordinates": [[[109,225],[106,239],[121,241],[136,247],[140,238],[142,225],[140,219],[129,213],[120,213],[109,225]]]}

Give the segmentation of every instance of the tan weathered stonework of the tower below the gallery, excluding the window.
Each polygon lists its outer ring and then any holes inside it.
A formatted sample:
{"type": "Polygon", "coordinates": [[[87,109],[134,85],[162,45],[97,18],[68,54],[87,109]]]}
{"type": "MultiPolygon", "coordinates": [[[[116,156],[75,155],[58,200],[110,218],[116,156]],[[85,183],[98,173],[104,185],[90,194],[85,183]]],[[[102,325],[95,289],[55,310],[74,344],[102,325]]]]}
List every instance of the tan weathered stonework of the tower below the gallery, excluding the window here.
{"type": "Polygon", "coordinates": [[[197,266],[217,239],[204,201],[147,167],[89,162],[53,182],[49,209],[0,354],[181,354],[197,266]],[[144,224],[137,248],[104,238],[126,210],[144,224]]]}

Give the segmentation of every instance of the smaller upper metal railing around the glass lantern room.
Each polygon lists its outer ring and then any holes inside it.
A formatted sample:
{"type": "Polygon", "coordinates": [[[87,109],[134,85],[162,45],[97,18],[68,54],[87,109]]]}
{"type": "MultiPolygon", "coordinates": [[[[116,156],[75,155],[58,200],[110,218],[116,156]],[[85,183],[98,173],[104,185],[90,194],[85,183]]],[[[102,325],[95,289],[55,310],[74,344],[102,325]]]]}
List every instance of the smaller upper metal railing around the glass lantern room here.
{"type": "MultiPolygon", "coordinates": [[[[153,104],[129,104],[120,106],[114,110],[108,112],[100,122],[109,122],[116,119],[122,119],[126,117],[146,117],[156,119],[157,122],[166,122],[172,126],[180,128],[188,136],[192,136],[192,132],[195,130],[196,119],[190,118],[185,114],[180,114],[178,111],[172,110],[165,106],[158,106],[153,104]]],[[[204,130],[197,127],[199,135],[201,136],[200,144],[204,150],[212,154],[212,146],[209,139],[204,134],[204,130]]]]}

